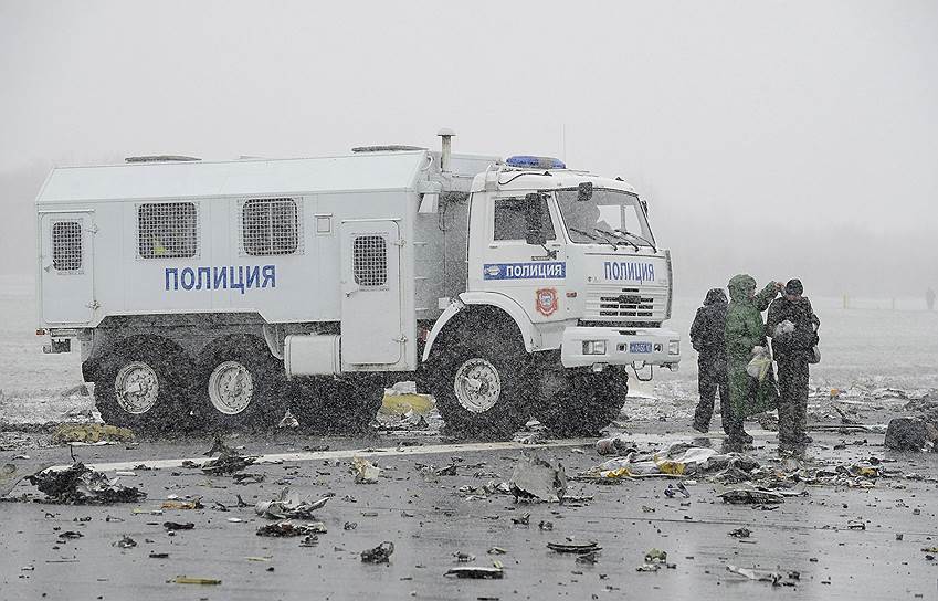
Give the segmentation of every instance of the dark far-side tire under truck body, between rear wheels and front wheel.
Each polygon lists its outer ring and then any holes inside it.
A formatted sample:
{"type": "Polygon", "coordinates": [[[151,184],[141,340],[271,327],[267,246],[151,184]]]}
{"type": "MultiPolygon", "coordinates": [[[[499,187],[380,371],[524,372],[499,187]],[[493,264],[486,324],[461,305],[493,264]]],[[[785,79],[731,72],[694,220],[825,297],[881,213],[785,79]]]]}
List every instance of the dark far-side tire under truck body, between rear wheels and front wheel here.
{"type": "Polygon", "coordinates": [[[368,430],[384,399],[381,378],[304,378],[291,382],[291,412],[299,428],[318,434],[368,430]]]}

